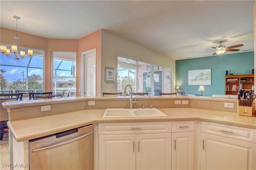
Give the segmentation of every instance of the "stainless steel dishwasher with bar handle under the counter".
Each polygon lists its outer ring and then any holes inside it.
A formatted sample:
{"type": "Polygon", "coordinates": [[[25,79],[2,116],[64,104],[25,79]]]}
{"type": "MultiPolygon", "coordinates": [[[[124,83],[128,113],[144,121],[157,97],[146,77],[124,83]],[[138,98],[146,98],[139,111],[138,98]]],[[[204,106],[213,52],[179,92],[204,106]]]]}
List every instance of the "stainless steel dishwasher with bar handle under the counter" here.
{"type": "Polygon", "coordinates": [[[93,170],[93,125],[29,140],[30,170],[93,170]]]}

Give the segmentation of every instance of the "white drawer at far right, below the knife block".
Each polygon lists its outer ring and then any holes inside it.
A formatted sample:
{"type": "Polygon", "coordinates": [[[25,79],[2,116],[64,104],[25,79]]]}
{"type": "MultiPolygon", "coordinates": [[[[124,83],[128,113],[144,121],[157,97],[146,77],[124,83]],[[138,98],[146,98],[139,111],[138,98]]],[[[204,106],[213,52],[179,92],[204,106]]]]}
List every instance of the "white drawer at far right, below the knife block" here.
{"type": "Polygon", "coordinates": [[[219,123],[202,122],[202,132],[240,141],[256,143],[256,129],[223,125],[219,123]]]}

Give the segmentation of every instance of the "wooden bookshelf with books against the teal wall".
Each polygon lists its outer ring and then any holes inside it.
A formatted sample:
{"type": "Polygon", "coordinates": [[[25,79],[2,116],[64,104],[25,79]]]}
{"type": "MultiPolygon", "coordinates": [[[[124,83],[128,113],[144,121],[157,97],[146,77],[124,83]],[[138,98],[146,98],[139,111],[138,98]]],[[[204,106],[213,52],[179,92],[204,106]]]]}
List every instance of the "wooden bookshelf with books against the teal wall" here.
{"type": "Polygon", "coordinates": [[[254,85],[254,74],[237,74],[225,76],[225,94],[237,95],[240,88],[249,92],[254,85]]]}

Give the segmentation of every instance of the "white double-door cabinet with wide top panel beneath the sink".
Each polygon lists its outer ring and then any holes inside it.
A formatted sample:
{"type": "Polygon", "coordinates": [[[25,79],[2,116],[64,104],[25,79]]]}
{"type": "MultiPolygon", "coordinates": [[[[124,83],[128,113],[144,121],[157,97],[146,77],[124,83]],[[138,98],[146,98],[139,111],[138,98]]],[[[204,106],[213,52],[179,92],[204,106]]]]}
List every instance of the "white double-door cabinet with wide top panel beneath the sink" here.
{"type": "Polygon", "coordinates": [[[99,123],[99,169],[170,170],[171,128],[171,122],[99,123]]]}

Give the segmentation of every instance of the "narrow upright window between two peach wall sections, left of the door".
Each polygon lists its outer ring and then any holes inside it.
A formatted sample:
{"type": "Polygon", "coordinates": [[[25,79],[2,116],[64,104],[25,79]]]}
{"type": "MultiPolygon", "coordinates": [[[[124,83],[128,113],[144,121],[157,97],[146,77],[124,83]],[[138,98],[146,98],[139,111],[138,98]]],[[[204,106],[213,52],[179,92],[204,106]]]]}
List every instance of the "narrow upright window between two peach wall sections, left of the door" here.
{"type": "Polygon", "coordinates": [[[76,96],[76,53],[52,52],[52,89],[54,94],[68,91],[65,97],[76,96]]]}

